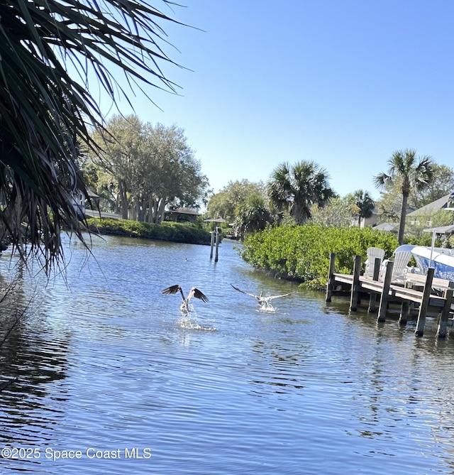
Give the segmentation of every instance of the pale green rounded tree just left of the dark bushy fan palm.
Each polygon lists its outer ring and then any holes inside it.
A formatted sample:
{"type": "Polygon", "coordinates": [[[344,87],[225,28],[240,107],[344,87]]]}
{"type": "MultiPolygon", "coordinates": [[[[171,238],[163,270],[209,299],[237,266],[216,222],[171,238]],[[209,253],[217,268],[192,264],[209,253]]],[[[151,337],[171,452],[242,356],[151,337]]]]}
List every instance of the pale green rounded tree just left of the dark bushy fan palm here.
{"type": "Polygon", "coordinates": [[[210,198],[207,212],[213,218],[223,218],[228,222],[233,222],[238,208],[253,195],[264,196],[261,182],[254,183],[249,180],[228,182],[227,186],[210,198]]]}

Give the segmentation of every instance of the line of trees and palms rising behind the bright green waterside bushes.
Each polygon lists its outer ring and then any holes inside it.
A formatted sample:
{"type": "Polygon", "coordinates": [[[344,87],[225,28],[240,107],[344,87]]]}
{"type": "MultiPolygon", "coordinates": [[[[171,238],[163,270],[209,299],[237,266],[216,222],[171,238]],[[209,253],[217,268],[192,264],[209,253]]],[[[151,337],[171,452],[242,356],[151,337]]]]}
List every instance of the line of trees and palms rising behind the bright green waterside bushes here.
{"type": "MultiPolygon", "coordinates": [[[[399,223],[402,244],[409,207],[417,209],[454,190],[454,171],[438,165],[427,155],[419,157],[413,149],[395,151],[388,160],[387,172],[374,177],[381,199],[372,200],[367,190],[355,190],[340,197],[329,185],[326,169],[313,161],[282,163],[272,171],[265,184],[248,180],[230,182],[208,204],[211,217],[233,223],[240,235],[275,224],[323,224],[351,226],[357,220],[378,212],[381,221],[399,223]]],[[[435,212],[423,227],[453,222],[452,213],[435,212]]],[[[411,226],[411,234],[421,230],[411,226]]]]}

